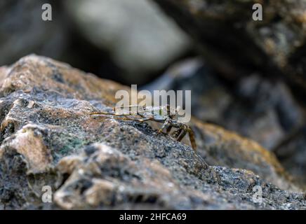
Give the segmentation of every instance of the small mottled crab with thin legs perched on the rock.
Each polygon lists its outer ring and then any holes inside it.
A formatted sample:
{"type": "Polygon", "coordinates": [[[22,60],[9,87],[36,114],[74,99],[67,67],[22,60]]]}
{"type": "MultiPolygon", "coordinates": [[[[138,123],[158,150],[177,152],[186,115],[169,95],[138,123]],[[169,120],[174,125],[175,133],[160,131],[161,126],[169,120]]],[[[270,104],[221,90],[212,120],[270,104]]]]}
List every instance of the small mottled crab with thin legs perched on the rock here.
{"type": "MultiPolygon", "coordinates": [[[[116,107],[113,109],[117,110],[116,107]]],[[[157,123],[162,123],[163,125],[158,130],[157,134],[161,134],[163,130],[166,128],[166,134],[170,134],[172,128],[176,128],[175,132],[173,132],[173,137],[177,141],[182,141],[186,134],[189,135],[189,141],[192,145],[194,151],[197,150],[197,144],[194,138],[194,132],[189,125],[180,122],[179,120],[175,120],[175,117],[178,116],[178,109],[172,109],[168,104],[166,106],[128,106],[127,113],[109,113],[105,111],[94,111],[90,112],[91,116],[112,116],[114,119],[120,120],[133,120],[138,122],[147,122],[154,121],[157,123]],[[129,109],[135,107],[137,110],[135,112],[130,111],[129,109]],[[133,117],[131,117],[133,116],[133,117]]]]}

